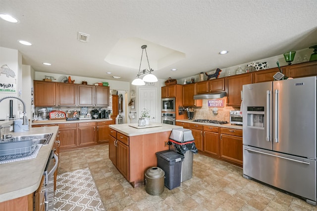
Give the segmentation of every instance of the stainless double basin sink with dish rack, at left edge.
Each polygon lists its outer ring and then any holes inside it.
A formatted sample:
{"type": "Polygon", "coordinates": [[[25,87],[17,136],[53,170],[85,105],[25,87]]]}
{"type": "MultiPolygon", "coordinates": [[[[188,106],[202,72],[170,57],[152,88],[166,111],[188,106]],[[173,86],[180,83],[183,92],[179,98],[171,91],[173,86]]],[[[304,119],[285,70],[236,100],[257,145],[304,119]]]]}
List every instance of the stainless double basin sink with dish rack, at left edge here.
{"type": "MultiPolygon", "coordinates": [[[[31,155],[38,144],[48,145],[53,133],[42,133],[21,136],[6,136],[0,139],[0,158],[31,155]]],[[[2,158],[3,159],[3,158],[2,158]]]]}

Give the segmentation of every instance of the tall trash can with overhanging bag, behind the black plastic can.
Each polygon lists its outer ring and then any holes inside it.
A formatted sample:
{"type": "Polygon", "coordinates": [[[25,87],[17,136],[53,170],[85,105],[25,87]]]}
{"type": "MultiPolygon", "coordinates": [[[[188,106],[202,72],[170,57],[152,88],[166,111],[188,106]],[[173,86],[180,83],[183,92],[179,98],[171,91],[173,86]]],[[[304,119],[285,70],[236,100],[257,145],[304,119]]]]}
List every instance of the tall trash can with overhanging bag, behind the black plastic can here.
{"type": "Polygon", "coordinates": [[[181,182],[193,177],[193,153],[197,153],[192,131],[185,128],[175,128],[169,136],[170,150],[184,155],[182,162],[181,182]]]}

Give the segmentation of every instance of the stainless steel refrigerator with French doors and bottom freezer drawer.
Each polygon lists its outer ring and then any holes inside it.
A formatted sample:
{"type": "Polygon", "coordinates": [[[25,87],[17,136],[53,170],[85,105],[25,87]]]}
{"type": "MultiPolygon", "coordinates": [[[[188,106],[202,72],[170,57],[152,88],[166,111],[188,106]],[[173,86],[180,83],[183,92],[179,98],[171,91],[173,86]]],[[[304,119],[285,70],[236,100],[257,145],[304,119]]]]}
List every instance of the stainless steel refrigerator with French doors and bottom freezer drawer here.
{"type": "Polygon", "coordinates": [[[316,80],[243,85],[243,176],[315,206],[316,80]]]}

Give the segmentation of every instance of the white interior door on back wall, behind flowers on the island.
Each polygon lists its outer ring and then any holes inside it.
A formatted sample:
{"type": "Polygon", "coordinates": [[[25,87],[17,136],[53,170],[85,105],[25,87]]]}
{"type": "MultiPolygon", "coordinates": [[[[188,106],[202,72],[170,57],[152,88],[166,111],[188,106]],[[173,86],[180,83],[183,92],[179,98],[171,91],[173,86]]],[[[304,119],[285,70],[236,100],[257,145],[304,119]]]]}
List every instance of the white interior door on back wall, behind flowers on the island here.
{"type": "Polygon", "coordinates": [[[140,88],[139,89],[139,96],[140,96],[140,107],[139,111],[140,114],[143,108],[148,109],[150,113],[150,122],[158,122],[156,117],[156,105],[157,105],[157,88],[140,88]]]}

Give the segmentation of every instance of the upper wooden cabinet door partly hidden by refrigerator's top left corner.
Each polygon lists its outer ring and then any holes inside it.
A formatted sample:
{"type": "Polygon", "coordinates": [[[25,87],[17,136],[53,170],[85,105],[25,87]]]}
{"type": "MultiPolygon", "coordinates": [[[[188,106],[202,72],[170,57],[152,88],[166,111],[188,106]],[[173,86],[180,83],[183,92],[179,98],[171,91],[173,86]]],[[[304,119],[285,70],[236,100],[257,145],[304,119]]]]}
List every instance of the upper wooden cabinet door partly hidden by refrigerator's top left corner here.
{"type": "Polygon", "coordinates": [[[241,92],[244,84],[252,84],[252,74],[245,73],[236,76],[226,77],[227,84],[227,105],[241,106],[241,92]]]}

